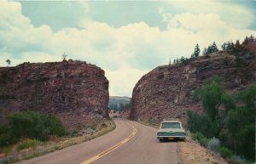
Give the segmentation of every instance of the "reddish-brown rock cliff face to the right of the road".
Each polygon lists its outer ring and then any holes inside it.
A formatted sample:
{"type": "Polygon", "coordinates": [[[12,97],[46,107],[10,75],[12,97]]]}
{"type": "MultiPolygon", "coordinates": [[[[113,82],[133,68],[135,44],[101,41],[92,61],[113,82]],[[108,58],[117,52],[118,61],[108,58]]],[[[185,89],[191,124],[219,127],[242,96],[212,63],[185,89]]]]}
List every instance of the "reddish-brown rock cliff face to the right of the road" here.
{"type": "Polygon", "coordinates": [[[218,52],[200,57],[188,65],[165,65],[144,75],[133,88],[131,119],[160,122],[163,118],[179,118],[186,122],[186,111],[202,113],[201,103],[193,93],[210,76],[224,79],[224,87],[232,90],[247,88],[256,79],[256,42],[239,54],[218,52]]]}

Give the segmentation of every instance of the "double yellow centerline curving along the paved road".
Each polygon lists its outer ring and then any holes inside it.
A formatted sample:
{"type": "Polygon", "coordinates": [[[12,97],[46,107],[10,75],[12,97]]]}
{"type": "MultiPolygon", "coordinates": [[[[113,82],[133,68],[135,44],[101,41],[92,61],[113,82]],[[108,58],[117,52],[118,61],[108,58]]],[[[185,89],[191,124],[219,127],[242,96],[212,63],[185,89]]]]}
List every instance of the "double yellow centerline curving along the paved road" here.
{"type": "Polygon", "coordinates": [[[119,142],[118,144],[114,144],[112,147],[108,148],[108,150],[103,150],[102,152],[98,153],[96,156],[92,156],[90,157],[88,160],[81,162],[80,164],[90,164],[93,161],[96,161],[100,158],[102,158],[103,156],[108,155],[109,153],[111,153],[113,150],[118,149],[120,146],[122,146],[123,144],[127,143],[128,141],[130,141],[135,134],[137,133],[137,128],[134,127],[133,125],[131,125],[130,122],[127,122],[131,127],[132,127],[132,133],[125,139],[123,139],[121,142],[119,142]]]}

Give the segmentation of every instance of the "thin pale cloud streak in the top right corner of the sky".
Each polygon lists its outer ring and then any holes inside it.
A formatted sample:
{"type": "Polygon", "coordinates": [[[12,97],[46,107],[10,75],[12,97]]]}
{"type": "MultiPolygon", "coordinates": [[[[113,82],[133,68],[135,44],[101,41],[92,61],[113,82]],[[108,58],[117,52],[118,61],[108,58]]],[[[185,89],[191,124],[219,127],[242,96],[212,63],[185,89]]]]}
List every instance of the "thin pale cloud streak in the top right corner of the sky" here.
{"type": "Polygon", "coordinates": [[[248,8],[229,1],[218,0],[179,0],[168,2],[172,8],[193,14],[218,14],[235,28],[247,28],[253,24],[253,12],[248,8]]]}

